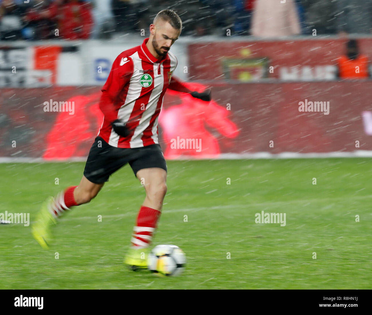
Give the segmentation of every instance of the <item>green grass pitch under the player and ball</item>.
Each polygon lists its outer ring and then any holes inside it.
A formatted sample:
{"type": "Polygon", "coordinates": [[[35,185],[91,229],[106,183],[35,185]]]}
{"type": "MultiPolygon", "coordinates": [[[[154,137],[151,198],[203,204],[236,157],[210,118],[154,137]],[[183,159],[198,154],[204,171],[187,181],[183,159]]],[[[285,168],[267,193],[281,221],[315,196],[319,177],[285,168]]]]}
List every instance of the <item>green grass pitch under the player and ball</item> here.
{"type": "MultiPolygon", "coordinates": [[[[33,221],[83,169],[0,164],[0,212],[29,212],[33,221]]],[[[181,247],[187,266],[161,278],[123,264],[144,200],[127,165],[61,218],[48,251],[31,225],[1,224],[0,289],[371,289],[371,179],[369,158],[168,161],[154,245],[181,247]],[[256,224],[262,210],[286,213],[286,226],[256,224]]]]}

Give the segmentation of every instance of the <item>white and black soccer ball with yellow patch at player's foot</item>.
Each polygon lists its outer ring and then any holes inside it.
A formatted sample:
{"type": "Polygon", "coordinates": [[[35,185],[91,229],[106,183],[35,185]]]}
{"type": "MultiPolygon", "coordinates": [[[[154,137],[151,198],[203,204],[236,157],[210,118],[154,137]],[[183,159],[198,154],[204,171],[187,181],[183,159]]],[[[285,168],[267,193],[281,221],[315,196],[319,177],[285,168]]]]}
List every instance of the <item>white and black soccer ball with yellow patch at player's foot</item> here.
{"type": "Polygon", "coordinates": [[[176,245],[157,245],[147,259],[147,268],[160,276],[177,276],[186,264],[185,253],[176,245]]]}

